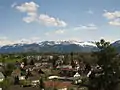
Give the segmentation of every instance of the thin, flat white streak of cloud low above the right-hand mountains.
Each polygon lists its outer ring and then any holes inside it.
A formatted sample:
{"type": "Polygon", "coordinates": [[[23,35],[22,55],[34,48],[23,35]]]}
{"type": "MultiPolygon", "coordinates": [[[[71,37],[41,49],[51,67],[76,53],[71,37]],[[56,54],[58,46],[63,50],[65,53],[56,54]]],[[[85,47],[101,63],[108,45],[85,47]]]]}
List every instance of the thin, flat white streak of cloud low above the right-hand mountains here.
{"type": "Polygon", "coordinates": [[[75,27],[74,30],[96,30],[98,27],[95,24],[80,25],[75,27]]]}

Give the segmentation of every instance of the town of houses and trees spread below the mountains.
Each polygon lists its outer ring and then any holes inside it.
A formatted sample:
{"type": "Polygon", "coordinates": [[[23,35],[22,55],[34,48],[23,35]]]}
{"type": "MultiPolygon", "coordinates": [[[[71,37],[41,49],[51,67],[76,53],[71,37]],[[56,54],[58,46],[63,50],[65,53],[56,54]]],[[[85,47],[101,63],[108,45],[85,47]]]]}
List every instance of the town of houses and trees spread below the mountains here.
{"type": "MultiPolygon", "coordinates": [[[[91,66],[91,54],[3,54],[0,63],[0,82],[9,80],[10,90],[84,90],[80,84],[87,83],[91,70],[100,70],[98,65],[91,66]],[[10,62],[7,62],[11,58],[10,62]],[[12,62],[13,59],[13,62],[12,62]],[[16,61],[14,60],[16,59],[16,61]],[[40,86],[40,83],[43,83],[40,86]]],[[[94,60],[93,60],[94,61],[94,60]]],[[[4,90],[4,89],[3,89],[4,90]]],[[[86,90],[86,89],[85,89],[86,90]]]]}

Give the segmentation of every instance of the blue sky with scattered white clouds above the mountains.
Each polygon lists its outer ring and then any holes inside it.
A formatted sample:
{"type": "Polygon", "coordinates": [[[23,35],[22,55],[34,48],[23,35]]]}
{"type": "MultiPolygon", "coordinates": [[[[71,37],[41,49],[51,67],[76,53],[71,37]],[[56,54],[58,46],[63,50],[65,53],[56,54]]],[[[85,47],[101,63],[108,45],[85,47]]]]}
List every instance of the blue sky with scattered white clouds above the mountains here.
{"type": "Polygon", "coordinates": [[[0,45],[120,39],[120,0],[0,0],[0,45]]]}

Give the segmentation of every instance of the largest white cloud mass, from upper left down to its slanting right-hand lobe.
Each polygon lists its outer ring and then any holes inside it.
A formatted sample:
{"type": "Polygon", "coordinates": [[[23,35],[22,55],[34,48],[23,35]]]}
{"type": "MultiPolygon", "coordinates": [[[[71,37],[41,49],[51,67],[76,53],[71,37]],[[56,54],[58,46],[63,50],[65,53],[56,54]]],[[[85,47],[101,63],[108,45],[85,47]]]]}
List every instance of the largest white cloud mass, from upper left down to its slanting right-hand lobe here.
{"type": "Polygon", "coordinates": [[[15,7],[22,13],[26,13],[27,16],[23,18],[26,23],[37,22],[46,26],[66,27],[67,24],[58,18],[51,17],[46,14],[38,14],[39,5],[34,2],[26,2],[22,5],[15,7]]]}

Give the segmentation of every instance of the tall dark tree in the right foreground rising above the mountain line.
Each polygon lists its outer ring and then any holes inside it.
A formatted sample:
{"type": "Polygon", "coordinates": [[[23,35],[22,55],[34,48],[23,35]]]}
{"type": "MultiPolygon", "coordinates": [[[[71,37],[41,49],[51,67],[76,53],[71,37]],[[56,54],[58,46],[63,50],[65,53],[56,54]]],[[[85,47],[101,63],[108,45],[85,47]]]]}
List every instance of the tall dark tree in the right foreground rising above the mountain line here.
{"type": "Polygon", "coordinates": [[[105,42],[103,39],[96,45],[99,49],[95,53],[98,57],[97,64],[102,70],[99,74],[92,71],[89,90],[115,90],[120,77],[120,61],[116,58],[117,52],[109,42],[105,42]]]}

